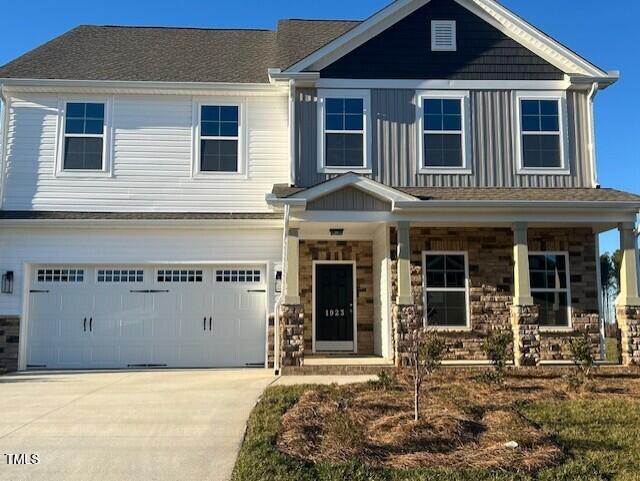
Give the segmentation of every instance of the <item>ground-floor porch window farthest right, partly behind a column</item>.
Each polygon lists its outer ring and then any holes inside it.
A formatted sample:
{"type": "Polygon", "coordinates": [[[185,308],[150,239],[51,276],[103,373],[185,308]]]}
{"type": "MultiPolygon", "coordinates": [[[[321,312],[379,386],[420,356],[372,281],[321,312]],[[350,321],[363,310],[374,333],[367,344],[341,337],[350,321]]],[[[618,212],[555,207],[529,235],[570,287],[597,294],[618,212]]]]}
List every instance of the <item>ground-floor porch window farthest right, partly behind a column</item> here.
{"type": "Polygon", "coordinates": [[[540,309],[542,327],[570,327],[569,268],[566,253],[529,255],[533,301],[540,309]]]}

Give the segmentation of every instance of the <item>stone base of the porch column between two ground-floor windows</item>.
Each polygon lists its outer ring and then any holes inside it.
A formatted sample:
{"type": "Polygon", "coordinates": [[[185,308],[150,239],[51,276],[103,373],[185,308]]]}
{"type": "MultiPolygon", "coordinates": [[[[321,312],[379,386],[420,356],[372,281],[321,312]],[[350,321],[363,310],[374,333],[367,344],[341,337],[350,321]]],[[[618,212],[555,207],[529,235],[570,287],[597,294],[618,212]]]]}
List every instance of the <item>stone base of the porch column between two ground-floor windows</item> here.
{"type": "Polygon", "coordinates": [[[513,362],[516,367],[540,363],[540,325],[538,306],[511,306],[513,362]]]}

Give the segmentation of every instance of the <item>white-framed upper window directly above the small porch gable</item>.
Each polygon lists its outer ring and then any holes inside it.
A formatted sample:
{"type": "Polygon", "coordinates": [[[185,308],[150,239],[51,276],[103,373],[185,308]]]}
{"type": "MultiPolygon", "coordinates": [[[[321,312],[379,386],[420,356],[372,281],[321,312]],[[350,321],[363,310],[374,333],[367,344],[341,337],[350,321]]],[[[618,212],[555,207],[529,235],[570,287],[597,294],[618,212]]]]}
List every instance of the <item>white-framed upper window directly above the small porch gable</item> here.
{"type": "Polygon", "coordinates": [[[369,93],[321,92],[319,101],[319,170],[368,170],[369,93]]]}

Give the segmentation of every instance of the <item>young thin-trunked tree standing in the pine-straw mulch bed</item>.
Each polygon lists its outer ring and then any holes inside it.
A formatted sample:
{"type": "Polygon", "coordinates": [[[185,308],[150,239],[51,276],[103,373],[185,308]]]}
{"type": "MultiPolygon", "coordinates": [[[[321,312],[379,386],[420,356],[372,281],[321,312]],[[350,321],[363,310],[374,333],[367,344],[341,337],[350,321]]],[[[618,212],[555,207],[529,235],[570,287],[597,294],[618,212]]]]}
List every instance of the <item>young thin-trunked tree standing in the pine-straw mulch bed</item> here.
{"type": "Polygon", "coordinates": [[[413,378],[413,419],[420,419],[420,397],[424,379],[442,363],[446,345],[434,331],[419,328],[409,333],[407,349],[413,378]]]}

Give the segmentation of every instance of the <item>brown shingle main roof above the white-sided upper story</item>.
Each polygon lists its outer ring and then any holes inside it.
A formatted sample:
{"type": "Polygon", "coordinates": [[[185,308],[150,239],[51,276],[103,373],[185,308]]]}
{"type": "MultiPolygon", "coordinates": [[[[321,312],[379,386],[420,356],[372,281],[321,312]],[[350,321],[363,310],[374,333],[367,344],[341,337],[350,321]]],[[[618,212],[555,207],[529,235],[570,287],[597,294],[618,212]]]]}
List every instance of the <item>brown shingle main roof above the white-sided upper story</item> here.
{"type": "Polygon", "coordinates": [[[282,20],[278,30],[82,25],[0,67],[0,78],[268,82],[358,22],[282,20]]]}

